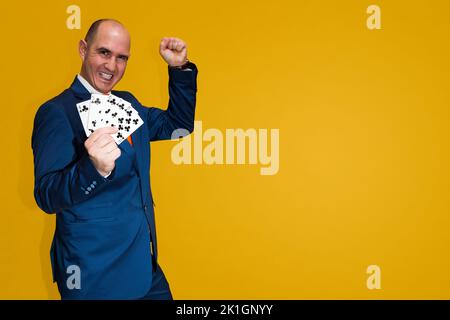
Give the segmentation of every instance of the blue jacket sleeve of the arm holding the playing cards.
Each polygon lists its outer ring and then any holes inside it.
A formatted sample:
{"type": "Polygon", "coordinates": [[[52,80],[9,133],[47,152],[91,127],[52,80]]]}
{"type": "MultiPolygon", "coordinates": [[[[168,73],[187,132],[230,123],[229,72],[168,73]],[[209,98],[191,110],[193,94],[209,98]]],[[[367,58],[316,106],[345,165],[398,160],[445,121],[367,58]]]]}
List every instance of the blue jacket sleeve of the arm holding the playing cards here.
{"type": "Polygon", "coordinates": [[[58,104],[46,103],[37,111],[31,145],[34,197],[46,213],[91,198],[110,180],[98,173],[86,152],[77,154],[70,123],[58,104]]]}

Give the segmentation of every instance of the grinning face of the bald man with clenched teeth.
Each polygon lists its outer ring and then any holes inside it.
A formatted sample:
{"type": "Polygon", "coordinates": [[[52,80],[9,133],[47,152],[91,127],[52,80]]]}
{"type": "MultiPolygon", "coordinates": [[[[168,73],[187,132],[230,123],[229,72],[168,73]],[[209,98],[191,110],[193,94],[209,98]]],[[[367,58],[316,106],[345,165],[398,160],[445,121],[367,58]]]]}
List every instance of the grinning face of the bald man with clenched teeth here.
{"type": "Polygon", "coordinates": [[[130,36],[121,25],[106,21],[94,39],[80,41],[81,75],[95,89],[108,93],[122,79],[130,56],[130,36]]]}

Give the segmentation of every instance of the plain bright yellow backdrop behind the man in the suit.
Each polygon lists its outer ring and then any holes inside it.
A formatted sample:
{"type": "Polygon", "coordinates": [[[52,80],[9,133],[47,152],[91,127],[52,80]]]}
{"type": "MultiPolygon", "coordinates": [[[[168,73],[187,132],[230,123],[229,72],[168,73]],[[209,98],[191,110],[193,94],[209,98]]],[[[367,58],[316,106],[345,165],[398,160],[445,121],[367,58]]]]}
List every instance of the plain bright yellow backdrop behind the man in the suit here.
{"type": "Polygon", "coordinates": [[[33,198],[37,108],[112,17],[132,35],[118,89],[165,108],[163,36],[199,68],[203,130],[280,129],[280,170],[181,165],[152,144],[160,263],[176,299],[450,298],[450,2],[8,1],[2,4],[0,298],[58,299],[55,216],[33,198]],[[66,8],[81,8],[81,29],[66,8]],[[381,7],[382,30],[366,8],[381,7]],[[6,133],[6,134],[5,134],[6,133]],[[381,268],[380,290],[366,287],[381,268]]]}

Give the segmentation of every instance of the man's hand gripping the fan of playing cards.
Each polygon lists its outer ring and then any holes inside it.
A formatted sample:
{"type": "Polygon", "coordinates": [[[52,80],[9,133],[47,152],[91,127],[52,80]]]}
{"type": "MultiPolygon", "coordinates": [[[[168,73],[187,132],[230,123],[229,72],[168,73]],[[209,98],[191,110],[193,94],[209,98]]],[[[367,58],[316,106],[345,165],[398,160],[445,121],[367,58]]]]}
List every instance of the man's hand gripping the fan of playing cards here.
{"type": "Polygon", "coordinates": [[[89,158],[103,177],[113,171],[116,166],[115,161],[120,157],[120,149],[111,137],[111,134],[116,132],[117,128],[100,128],[95,130],[84,142],[89,158]]]}

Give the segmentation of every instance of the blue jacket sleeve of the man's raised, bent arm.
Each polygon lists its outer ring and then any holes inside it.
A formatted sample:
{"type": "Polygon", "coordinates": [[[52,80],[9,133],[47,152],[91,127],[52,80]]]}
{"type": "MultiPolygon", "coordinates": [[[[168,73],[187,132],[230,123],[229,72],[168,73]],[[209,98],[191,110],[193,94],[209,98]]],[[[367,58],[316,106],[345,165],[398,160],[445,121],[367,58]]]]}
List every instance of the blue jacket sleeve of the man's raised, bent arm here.
{"type": "Polygon", "coordinates": [[[181,134],[176,138],[194,130],[198,70],[193,63],[189,64],[189,68],[190,71],[169,68],[167,110],[146,108],[149,141],[171,139],[177,129],[181,134]]]}

